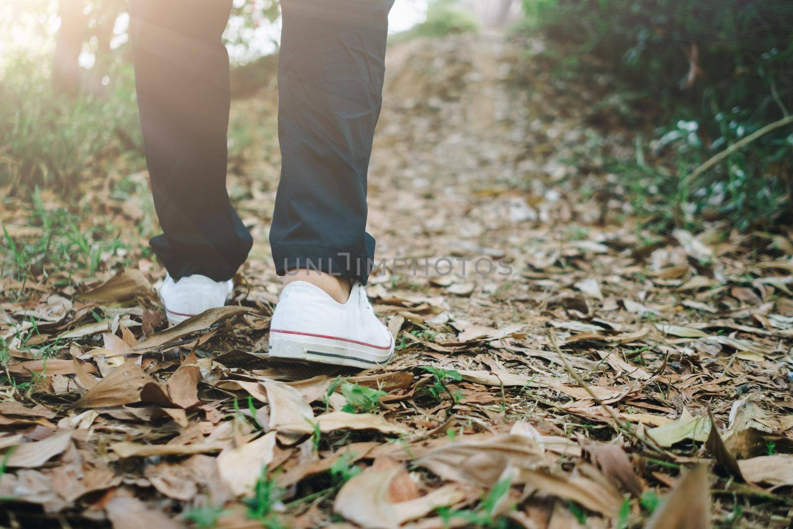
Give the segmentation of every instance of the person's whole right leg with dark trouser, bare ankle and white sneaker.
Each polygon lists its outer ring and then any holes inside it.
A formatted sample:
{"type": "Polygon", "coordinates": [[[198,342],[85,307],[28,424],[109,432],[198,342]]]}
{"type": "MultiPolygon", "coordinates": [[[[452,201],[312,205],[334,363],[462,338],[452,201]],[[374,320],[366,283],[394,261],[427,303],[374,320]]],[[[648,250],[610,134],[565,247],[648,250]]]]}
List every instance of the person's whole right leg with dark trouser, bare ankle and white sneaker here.
{"type": "Polygon", "coordinates": [[[362,286],[374,261],[366,171],[392,5],[281,2],[282,173],[270,245],[286,278],[270,321],[272,358],[372,368],[393,355],[394,340],[362,286]]]}

